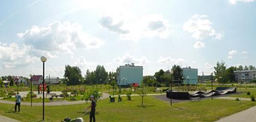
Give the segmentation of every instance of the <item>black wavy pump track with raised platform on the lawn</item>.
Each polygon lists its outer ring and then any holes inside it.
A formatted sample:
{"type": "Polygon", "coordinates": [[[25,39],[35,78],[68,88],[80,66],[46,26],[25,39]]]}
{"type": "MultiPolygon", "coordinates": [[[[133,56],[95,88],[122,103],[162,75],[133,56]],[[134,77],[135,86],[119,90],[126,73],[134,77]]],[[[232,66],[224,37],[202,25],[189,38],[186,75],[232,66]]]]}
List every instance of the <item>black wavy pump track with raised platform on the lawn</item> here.
{"type": "Polygon", "coordinates": [[[170,92],[170,90],[166,90],[166,97],[172,97],[172,99],[187,100],[190,98],[205,98],[233,93],[237,93],[236,87],[217,87],[215,90],[209,90],[207,92],[198,91],[191,94],[189,94],[188,92],[170,92]]]}

